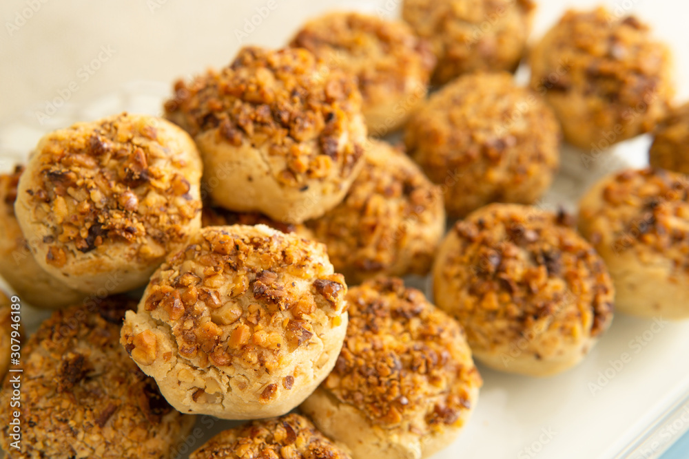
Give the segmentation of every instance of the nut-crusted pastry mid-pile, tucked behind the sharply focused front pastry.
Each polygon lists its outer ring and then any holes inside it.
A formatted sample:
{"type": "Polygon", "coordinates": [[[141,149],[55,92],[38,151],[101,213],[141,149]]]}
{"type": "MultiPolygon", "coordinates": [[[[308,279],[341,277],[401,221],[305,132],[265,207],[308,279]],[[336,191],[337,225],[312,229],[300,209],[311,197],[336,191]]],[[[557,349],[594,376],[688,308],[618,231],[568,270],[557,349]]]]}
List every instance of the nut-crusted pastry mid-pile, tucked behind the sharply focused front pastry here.
{"type": "Polygon", "coordinates": [[[426,275],[445,232],[442,192],[402,151],[371,140],[345,200],[307,226],[349,284],[426,275]]]}

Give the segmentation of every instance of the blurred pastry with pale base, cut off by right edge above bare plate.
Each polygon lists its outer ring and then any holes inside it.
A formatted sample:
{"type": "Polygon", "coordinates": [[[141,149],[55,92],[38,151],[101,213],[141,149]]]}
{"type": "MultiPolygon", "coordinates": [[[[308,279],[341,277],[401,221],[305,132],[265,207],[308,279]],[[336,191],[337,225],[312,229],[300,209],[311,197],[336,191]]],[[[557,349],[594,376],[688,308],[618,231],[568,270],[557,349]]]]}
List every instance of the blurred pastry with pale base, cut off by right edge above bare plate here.
{"type": "Polygon", "coordinates": [[[595,184],[579,204],[579,230],[615,282],[615,308],[689,319],[689,178],[628,169],[595,184]]]}

